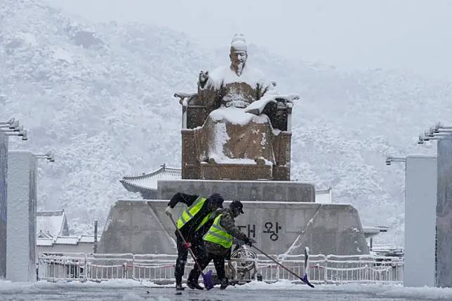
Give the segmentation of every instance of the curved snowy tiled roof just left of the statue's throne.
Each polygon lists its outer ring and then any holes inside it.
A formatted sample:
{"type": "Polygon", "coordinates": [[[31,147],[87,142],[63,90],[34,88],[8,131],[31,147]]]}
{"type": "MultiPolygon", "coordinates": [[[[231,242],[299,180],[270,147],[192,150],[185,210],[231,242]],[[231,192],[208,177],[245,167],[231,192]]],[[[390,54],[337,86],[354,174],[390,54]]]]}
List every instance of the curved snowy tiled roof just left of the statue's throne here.
{"type": "Polygon", "coordinates": [[[180,168],[166,167],[161,165],[159,169],[149,172],[148,174],[140,174],[137,176],[124,176],[119,180],[124,188],[132,193],[141,193],[143,197],[157,192],[157,181],[159,180],[178,180],[182,179],[182,171],[180,168]]]}

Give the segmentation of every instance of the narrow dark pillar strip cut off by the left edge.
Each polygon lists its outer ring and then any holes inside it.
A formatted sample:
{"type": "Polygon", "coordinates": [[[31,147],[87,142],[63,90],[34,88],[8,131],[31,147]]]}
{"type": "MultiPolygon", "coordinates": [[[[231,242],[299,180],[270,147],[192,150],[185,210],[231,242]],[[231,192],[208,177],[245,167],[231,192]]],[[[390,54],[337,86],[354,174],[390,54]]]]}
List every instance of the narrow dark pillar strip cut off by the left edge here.
{"type": "Polygon", "coordinates": [[[0,279],[6,277],[6,176],[8,137],[0,132],[0,279]]]}

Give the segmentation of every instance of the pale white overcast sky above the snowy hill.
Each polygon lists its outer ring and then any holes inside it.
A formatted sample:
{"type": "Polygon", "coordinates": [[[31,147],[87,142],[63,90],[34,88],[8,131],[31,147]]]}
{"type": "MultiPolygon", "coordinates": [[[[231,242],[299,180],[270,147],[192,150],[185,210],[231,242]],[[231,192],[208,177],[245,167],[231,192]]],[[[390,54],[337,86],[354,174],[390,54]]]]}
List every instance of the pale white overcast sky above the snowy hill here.
{"type": "Polygon", "coordinates": [[[341,69],[404,69],[452,80],[452,0],[44,0],[95,21],[145,22],[211,47],[234,33],[341,69]]]}

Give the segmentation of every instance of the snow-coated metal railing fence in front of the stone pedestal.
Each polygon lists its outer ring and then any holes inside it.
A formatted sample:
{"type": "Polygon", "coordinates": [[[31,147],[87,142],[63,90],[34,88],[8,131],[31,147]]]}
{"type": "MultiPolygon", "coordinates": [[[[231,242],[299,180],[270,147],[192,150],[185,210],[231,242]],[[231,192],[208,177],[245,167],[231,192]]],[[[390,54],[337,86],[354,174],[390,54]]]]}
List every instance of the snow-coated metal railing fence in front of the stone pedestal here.
{"type": "MultiPolygon", "coordinates": [[[[175,281],[176,255],[41,253],[38,258],[39,280],[104,281],[135,279],[175,281]]],[[[303,255],[274,256],[296,274],[303,275],[303,255]]],[[[234,260],[234,259],[233,259],[234,260]]],[[[237,261],[243,261],[241,258],[237,261]]],[[[259,255],[255,260],[262,281],[282,279],[299,281],[295,276],[259,255]]],[[[308,273],[312,283],[403,283],[404,260],[373,255],[310,255],[308,273]]],[[[188,260],[186,270],[193,267],[188,260]]],[[[213,269],[213,266],[207,267],[213,269]]],[[[187,273],[186,273],[187,274],[187,273]]]]}

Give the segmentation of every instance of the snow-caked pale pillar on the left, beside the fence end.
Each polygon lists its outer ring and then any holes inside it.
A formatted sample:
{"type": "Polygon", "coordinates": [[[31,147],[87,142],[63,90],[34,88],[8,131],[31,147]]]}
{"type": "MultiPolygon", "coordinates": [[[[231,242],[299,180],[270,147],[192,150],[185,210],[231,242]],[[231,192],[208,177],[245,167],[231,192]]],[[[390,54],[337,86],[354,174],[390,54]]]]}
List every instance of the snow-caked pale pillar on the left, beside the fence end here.
{"type": "Polygon", "coordinates": [[[6,279],[36,281],[36,158],[8,153],[6,279]]]}

